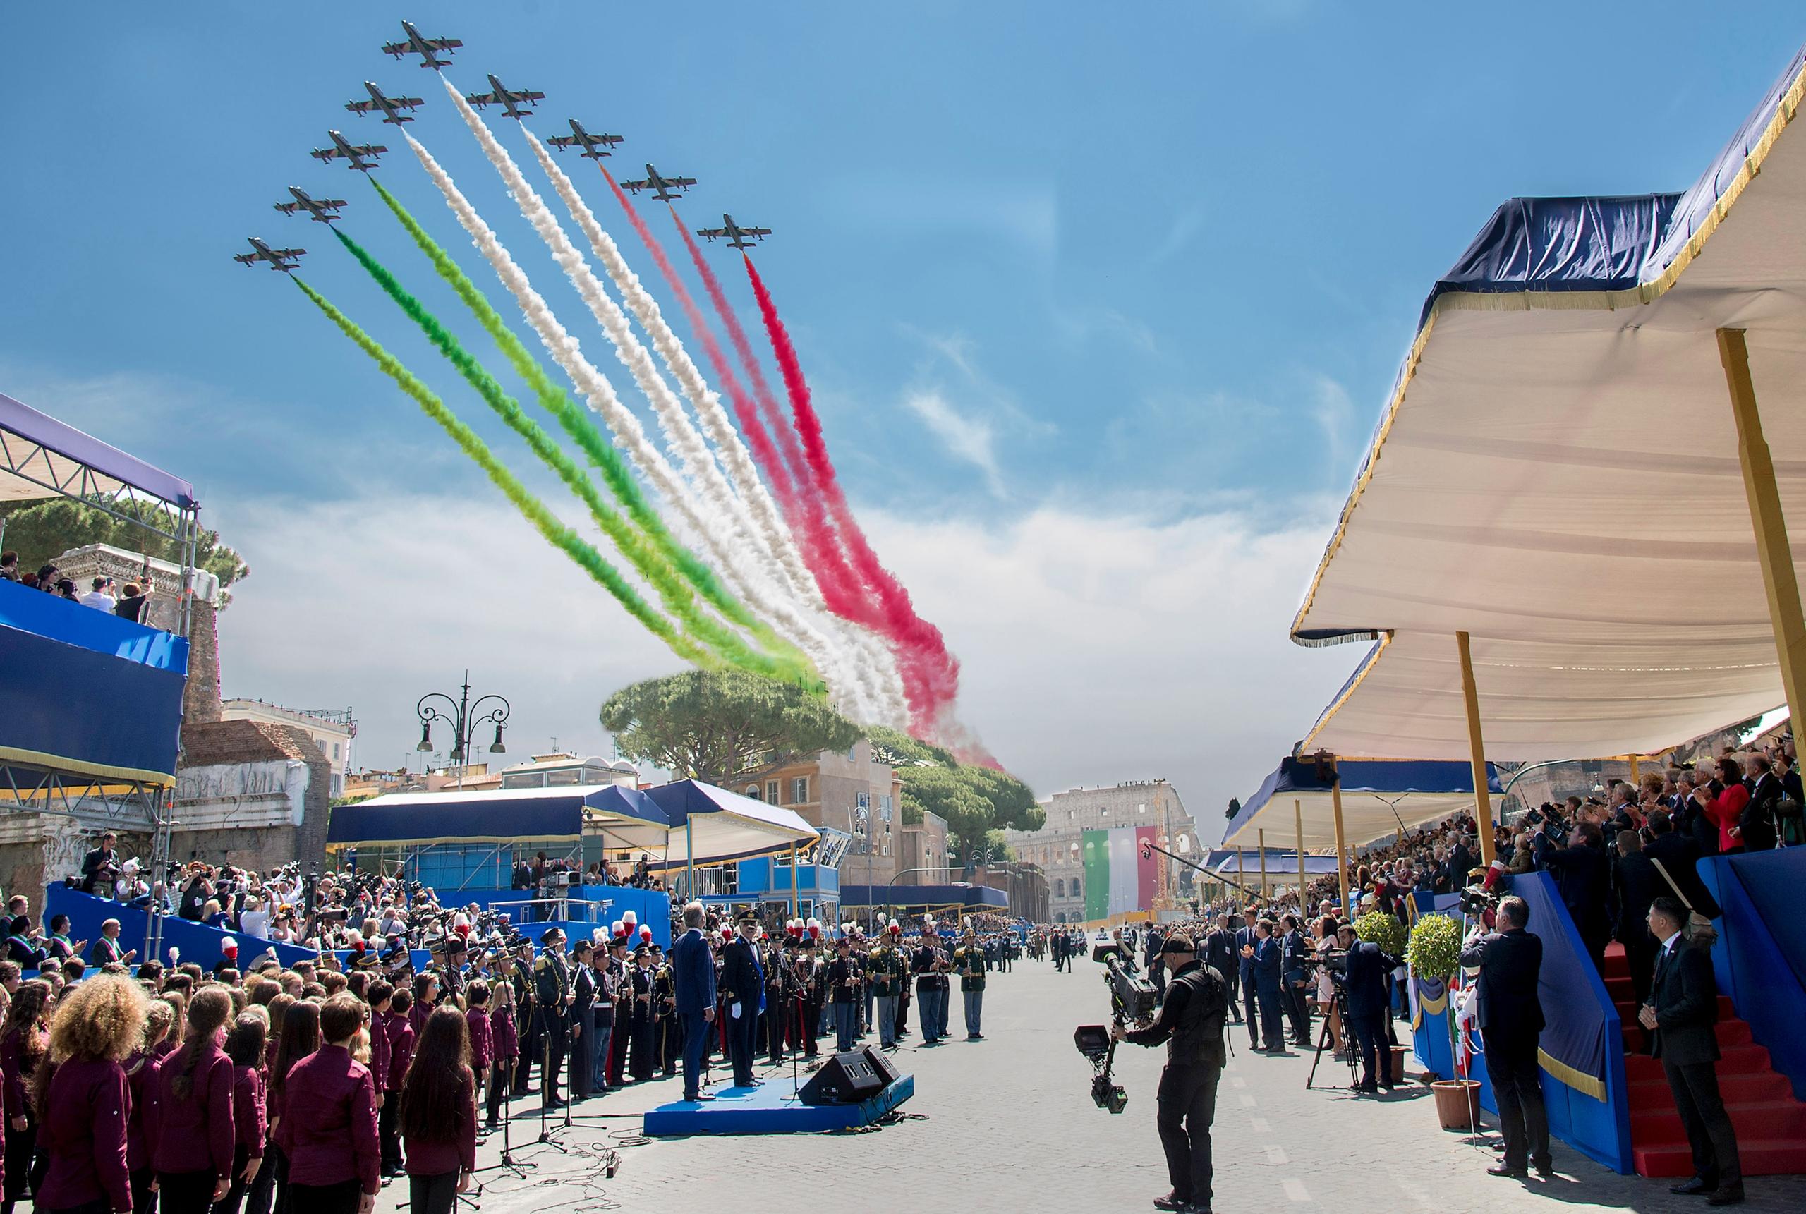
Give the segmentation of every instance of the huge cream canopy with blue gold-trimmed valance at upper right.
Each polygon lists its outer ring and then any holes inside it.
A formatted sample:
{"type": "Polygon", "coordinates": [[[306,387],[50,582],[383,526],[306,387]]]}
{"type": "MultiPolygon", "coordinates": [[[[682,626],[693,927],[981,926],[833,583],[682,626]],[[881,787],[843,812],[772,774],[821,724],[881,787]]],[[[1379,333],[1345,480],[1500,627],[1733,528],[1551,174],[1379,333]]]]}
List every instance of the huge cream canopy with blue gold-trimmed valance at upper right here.
{"type": "Polygon", "coordinates": [[[1508,202],[1438,284],[1293,621],[1380,645],[1300,752],[1652,753],[1790,699],[1802,92],[1795,56],[1681,195],[1508,202]]]}

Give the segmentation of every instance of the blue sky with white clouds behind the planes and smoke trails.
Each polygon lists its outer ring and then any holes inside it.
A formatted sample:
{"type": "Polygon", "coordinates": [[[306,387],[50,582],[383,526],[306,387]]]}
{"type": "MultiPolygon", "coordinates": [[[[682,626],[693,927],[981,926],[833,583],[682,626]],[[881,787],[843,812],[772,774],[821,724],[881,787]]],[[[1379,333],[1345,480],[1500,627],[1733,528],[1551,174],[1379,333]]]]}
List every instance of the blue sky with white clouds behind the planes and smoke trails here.
{"type": "MultiPolygon", "coordinates": [[[[455,612],[423,623],[421,677],[468,659],[498,681],[535,661],[536,634],[515,634],[517,607],[471,636],[470,612],[563,574],[502,520],[506,551],[471,551],[461,535],[489,535],[477,515],[495,506],[480,477],[296,291],[228,258],[251,233],[311,247],[309,280],[480,421],[320,226],[269,210],[289,182],[350,199],[347,229],[457,316],[368,186],[305,155],[329,125],[392,130],[340,108],[374,79],[426,98],[412,130],[565,323],[582,318],[432,74],[376,49],[401,16],[464,40],[448,74],[466,90],[495,70],[547,92],[542,134],[576,116],[627,137],[619,170],[699,177],[692,226],[731,210],[777,229],[759,264],[842,475],[919,596],[952,612],[984,688],[968,715],[1006,761],[1044,789],[1183,771],[1206,802],[1244,793],[1347,668],[1289,652],[1284,629],[1429,284],[1510,195],[1683,188],[1806,38],[1799,5],[1768,0],[1710,20],[1649,2],[7,5],[0,390],[191,477],[215,526],[260,540],[228,690],[367,706],[365,759],[385,766],[412,705],[388,683],[414,672],[372,674],[394,641],[359,612],[381,600],[329,594],[320,569],[462,562],[480,574],[452,594],[466,630],[455,612]],[[410,504],[432,524],[406,544],[359,531],[410,504]],[[1058,596],[1006,609],[1010,585],[943,576],[959,544],[1102,614],[1073,630],[1058,596]],[[493,576],[517,546],[527,585],[493,576]],[[1123,551],[1152,564],[1123,571],[1123,551]],[[1199,580],[1168,587],[1165,565],[1199,580]],[[1271,602],[1243,620],[1250,582],[1271,602]],[[993,654],[1011,611],[1046,625],[1042,663],[993,654]],[[341,665],[269,658],[321,618],[341,665]],[[1230,620],[1253,632],[1230,645],[1230,620]],[[1159,629],[1187,636],[1123,647],[1159,629]],[[1192,632],[1230,647],[1188,649],[1192,632]],[[1224,656],[1250,647],[1271,670],[1224,656]],[[1096,746],[1075,757],[1073,733],[1022,721],[1078,670],[1109,686],[1066,690],[1105,692],[1127,724],[1085,723],[1096,746]],[[1268,674],[1284,694],[1243,721],[1224,679],[1268,674]]],[[[464,255],[415,164],[390,155],[383,179],[464,255]]],[[[605,191],[591,202],[625,228],[605,191]]],[[[446,596],[419,569],[363,573],[446,596]]],[[[569,596],[556,612],[592,603],[574,582],[547,594],[569,596]]],[[[659,668],[596,611],[609,658],[558,676],[544,735],[592,735],[592,692],[659,668]]]]}

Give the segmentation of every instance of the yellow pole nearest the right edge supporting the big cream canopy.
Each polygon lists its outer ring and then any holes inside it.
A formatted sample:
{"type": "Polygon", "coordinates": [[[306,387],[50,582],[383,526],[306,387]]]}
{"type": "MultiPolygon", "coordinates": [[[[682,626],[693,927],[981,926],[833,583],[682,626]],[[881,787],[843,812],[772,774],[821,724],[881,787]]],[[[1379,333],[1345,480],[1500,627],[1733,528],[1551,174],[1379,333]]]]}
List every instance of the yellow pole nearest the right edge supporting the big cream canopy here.
{"type": "Polygon", "coordinates": [[[1755,385],[1750,379],[1750,347],[1743,329],[1718,331],[1718,356],[1725,363],[1730,387],[1730,412],[1737,419],[1737,462],[1743,464],[1743,491],[1750,499],[1750,524],[1755,528],[1755,555],[1763,564],[1763,589],[1768,593],[1768,623],[1775,632],[1781,658],[1781,688],[1788,712],[1801,719],[1801,694],[1806,690],[1806,623],[1801,620],[1801,587],[1788,547],[1788,524],[1781,515],[1775,488],[1775,461],[1763,437],[1763,417],[1755,410],[1755,385]]]}

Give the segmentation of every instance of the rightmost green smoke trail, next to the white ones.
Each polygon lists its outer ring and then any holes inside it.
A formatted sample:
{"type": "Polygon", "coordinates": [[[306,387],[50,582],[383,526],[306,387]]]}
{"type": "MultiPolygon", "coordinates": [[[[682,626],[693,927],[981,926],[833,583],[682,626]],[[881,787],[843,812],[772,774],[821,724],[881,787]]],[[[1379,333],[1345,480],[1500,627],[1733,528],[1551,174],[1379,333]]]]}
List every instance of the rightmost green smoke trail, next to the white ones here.
{"type": "Polygon", "coordinates": [[[473,284],[464,271],[459,269],[457,262],[453,262],[452,257],[439,247],[430,235],[426,235],[426,229],[421,228],[419,220],[415,220],[405,206],[401,206],[401,201],[385,190],[383,182],[374,177],[370,179],[370,184],[376,186],[377,195],[381,195],[388,210],[394,211],[396,219],[401,220],[401,226],[406,228],[421,253],[432,260],[439,276],[444,278],[453,291],[457,291],[459,298],[464,300],[466,307],[470,307],[484,332],[488,332],[497,347],[500,347],[502,354],[515,369],[515,374],[527,381],[535,397],[538,397],[540,406],[558,419],[558,426],[583,450],[591,464],[596,466],[601,479],[609,484],[609,490],[614,491],[614,497],[627,509],[627,515],[639,526],[641,531],[647,533],[659,551],[665,553],[666,560],[670,560],[677,571],[683,573],[692,585],[695,585],[697,593],[701,593],[710,605],[733,623],[748,629],[768,652],[789,652],[796,656],[798,663],[805,665],[807,659],[802,658],[795,647],[778,638],[771,627],[759,616],[751,614],[740,600],[728,594],[721,582],[715,580],[715,573],[697,560],[695,553],[679,544],[670,531],[666,531],[665,520],[647,500],[645,493],[641,493],[639,482],[634,481],[627,462],[621,459],[621,453],[614,450],[609,437],[596,428],[596,425],[589,419],[589,414],[578,406],[576,401],[565,396],[563,388],[560,388],[553,378],[545,374],[540,361],[531,350],[527,350],[520,338],[515,336],[515,332],[502,320],[502,314],[495,311],[477,284],[473,284]]]}

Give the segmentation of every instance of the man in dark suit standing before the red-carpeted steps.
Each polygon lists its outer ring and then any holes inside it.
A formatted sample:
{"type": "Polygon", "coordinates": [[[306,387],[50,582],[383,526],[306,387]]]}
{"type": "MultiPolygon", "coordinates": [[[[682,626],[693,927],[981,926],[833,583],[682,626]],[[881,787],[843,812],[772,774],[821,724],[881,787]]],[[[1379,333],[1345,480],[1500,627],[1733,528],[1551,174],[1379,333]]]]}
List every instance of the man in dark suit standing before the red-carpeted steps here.
{"type": "Polygon", "coordinates": [[[1707,1205],[1737,1205],[1743,1201],[1737,1131],[1718,1095],[1718,979],[1710,954],[1689,945],[1683,927],[1687,907],[1680,900],[1651,903],[1649,934],[1662,948],[1651,1001],[1636,1017],[1651,1032],[1652,1053],[1662,1059],[1694,1156],[1692,1180],[1669,1192],[1703,1192],[1707,1205]]]}

